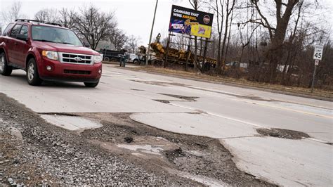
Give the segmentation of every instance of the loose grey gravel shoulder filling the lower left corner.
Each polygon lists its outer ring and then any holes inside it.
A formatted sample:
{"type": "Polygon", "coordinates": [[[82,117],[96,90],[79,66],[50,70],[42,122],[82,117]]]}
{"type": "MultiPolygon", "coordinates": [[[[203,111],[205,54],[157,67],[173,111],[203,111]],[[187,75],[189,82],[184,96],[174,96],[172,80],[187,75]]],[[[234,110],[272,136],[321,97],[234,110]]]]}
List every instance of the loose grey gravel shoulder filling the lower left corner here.
{"type": "Polygon", "coordinates": [[[0,182],[24,185],[163,185],[199,183],[152,172],[72,131],[55,127],[0,93],[0,182]],[[22,134],[22,140],[11,129],[22,134]],[[12,183],[11,183],[12,182],[12,183]]]}

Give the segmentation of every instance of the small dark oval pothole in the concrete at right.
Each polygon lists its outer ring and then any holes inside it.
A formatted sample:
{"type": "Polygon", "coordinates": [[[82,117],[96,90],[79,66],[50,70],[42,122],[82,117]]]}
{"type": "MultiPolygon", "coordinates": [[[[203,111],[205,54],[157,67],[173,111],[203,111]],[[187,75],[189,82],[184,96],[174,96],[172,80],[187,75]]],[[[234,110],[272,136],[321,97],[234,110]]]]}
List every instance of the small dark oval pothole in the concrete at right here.
{"type": "Polygon", "coordinates": [[[292,131],[287,129],[256,129],[256,131],[263,136],[272,136],[276,138],[287,138],[298,140],[301,138],[310,138],[308,134],[301,131],[292,131]]]}

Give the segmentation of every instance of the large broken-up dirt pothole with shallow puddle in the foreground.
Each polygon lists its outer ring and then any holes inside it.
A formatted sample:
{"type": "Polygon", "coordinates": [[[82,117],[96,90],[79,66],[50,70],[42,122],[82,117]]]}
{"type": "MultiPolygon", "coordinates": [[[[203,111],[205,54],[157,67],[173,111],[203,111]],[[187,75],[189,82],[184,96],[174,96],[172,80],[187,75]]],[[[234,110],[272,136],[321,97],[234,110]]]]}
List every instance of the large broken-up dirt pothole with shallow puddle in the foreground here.
{"type": "MultiPolygon", "coordinates": [[[[256,179],[246,174],[235,166],[230,154],[217,139],[201,136],[190,136],[163,131],[149,127],[129,118],[128,113],[98,113],[80,114],[84,117],[103,119],[103,127],[99,129],[86,130],[81,136],[91,141],[104,142],[104,147],[126,157],[137,164],[144,165],[152,171],[161,168],[166,170],[186,172],[195,176],[204,176],[209,179],[222,181],[231,186],[270,186],[270,183],[256,179]],[[124,144],[126,136],[133,137],[130,144],[124,144]],[[162,141],[158,141],[161,139],[162,141]],[[123,148],[126,145],[152,146],[161,148],[162,155],[145,154],[142,150],[119,151],[117,145],[123,148]]],[[[127,148],[128,149],[128,148],[127,148]]]]}

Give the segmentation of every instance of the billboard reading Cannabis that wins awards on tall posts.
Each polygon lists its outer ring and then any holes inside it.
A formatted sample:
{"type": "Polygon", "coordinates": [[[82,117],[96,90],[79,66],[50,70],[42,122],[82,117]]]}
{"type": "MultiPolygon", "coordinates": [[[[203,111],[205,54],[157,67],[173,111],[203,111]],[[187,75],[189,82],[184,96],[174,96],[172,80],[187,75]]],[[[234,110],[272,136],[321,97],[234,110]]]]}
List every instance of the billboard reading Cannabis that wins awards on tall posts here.
{"type": "Polygon", "coordinates": [[[210,38],[214,15],[181,6],[172,6],[169,32],[210,38]]]}

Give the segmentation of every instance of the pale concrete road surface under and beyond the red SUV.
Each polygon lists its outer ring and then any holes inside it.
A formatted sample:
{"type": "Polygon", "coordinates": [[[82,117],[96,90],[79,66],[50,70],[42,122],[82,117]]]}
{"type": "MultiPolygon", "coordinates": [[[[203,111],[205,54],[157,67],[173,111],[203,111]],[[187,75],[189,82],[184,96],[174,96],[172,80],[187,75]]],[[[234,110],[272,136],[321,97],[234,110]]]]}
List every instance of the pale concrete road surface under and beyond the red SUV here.
{"type": "Polygon", "coordinates": [[[79,83],[29,86],[25,72],[0,77],[0,92],[41,114],[132,113],[131,119],[181,134],[218,138],[237,167],[290,186],[332,186],[333,105],[329,101],[197,82],[103,66],[96,89],[79,83]],[[261,136],[256,129],[311,138],[261,136]],[[329,145],[331,143],[331,145],[329,145]]]}

